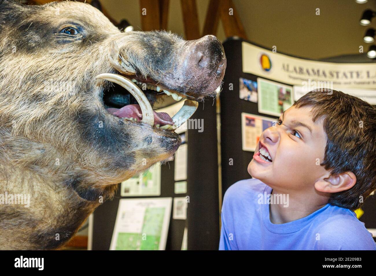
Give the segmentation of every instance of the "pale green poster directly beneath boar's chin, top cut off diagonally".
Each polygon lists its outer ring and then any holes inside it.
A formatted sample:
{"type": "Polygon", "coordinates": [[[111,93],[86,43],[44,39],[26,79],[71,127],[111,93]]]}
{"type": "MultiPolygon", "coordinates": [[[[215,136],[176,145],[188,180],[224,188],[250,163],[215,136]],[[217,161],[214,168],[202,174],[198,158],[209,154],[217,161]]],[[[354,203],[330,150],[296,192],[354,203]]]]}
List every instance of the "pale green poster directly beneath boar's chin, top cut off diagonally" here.
{"type": "Polygon", "coordinates": [[[120,185],[121,196],[160,196],[161,195],[161,163],[147,169],[120,185]]]}

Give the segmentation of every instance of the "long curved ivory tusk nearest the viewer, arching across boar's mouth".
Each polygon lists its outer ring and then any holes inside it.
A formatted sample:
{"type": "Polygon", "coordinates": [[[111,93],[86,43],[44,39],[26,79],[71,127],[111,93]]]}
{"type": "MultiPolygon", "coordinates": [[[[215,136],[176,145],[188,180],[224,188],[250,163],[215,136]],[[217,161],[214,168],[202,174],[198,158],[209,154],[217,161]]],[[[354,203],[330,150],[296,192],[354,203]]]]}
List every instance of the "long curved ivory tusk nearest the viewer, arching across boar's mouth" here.
{"type": "Polygon", "coordinates": [[[142,122],[148,124],[153,127],[154,125],[154,112],[152,106],[150,105],[149,101],[147,100],[145,94],[141,91],[141,89],[136,86],[132,81],[128,80],[126,77],[118,74],[100,74],[97,75],[96,78],[100,78],[102,80],[108,80],[113,83],[117,83],[120,86],[123,86],[127,89],[130,94],[135,97],[136,101],[138,102],[139,106],[141,107],[142,111],[142,122]]]}

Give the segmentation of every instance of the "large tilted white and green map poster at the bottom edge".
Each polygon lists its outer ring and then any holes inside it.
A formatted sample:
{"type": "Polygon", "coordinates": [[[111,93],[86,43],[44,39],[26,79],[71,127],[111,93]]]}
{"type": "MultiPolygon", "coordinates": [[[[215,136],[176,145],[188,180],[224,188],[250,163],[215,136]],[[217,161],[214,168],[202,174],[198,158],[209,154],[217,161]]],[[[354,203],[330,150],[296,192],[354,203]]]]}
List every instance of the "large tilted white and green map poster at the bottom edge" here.
{"type": "Polygon", "coordinates": [[[172,198],[120,199],[110,250],[165,250],[172,198]]]}

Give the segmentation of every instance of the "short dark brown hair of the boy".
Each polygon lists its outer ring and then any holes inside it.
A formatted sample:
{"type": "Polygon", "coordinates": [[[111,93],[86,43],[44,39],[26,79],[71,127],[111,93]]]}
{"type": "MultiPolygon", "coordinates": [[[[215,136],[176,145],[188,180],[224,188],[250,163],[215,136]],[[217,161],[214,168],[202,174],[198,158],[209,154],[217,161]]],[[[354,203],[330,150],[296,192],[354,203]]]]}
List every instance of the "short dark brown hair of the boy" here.
{"type": "Polygon", "coordinates": [[[312,106],[312,121],[323,119],[327,136],[321,166],[336,175],[351,171],[356,184],[332,193],[329,202],[350,210],[376,190],[376,107],[336,90],[316,89],[294,103],[296,108],[312,106]]]}

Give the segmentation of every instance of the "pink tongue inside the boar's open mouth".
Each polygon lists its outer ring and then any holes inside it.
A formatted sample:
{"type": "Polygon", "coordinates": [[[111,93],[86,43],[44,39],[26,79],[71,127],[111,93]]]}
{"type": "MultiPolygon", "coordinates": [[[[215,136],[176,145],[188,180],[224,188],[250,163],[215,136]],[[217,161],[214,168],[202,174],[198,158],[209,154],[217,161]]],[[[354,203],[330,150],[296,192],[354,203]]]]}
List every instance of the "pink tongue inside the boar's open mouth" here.
{"type": "MultiPolygon", "coordinates": [[[[137,118],[138,121],[142,120],[141,108],[138,104],[128,104],[127,106],[118,108],[108,108],[106,109],[109,113],[119,118],[137,118]]],[[[165,112],[154,112],[154,124],[162,125],[173,125],[174,122],[170,115],[165,112]]]]}

